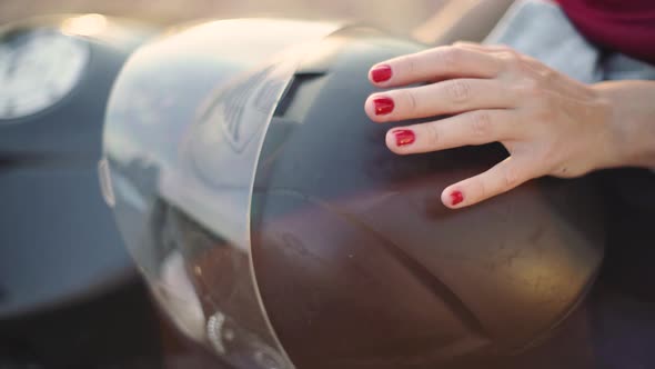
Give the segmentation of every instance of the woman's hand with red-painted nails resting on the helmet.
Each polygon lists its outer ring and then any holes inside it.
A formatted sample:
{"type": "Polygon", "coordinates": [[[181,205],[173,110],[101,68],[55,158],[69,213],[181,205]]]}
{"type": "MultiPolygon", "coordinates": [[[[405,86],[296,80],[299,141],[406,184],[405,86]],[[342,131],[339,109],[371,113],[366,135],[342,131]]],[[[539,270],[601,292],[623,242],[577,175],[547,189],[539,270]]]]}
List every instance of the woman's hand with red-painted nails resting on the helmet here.
{"type": "MultiPolygon", "coordinates": [[[[395,128],[386,146],[399,154],[501,142],[510,157],[447,187],[442,201],[462,208],[533,178],[577,177],[619,166],[612,107],[603,93],[505,47],[462,43],[374,66],[380,88],[365,110],[376,122],[451,116],[395,128]]],[[[655,104],[655,102],[653,102],[655,104]]]]}

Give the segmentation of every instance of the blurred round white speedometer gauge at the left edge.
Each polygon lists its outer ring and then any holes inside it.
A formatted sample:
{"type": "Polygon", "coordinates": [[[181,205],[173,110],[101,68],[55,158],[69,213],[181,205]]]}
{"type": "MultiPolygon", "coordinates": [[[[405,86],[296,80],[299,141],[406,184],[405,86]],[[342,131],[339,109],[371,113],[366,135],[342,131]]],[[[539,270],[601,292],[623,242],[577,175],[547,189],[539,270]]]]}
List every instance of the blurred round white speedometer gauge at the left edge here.
{"type": "Polygon", "coordinates": [[[57,29],[0,36],[0,120],[43,111],[70,93],[89,63],[83,40],[57,29]]]}

